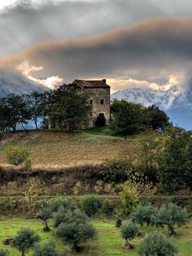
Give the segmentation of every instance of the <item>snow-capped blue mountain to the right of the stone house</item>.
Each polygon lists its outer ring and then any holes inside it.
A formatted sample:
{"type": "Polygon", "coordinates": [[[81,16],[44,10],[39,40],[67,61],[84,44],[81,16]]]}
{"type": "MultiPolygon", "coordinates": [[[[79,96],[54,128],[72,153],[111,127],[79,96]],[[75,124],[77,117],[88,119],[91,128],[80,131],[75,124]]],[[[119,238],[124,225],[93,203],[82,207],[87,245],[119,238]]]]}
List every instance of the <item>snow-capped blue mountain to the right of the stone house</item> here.
{"type": "Polygon", "coordinates": [[[174,125],[192,130],[192,89],[183,91],[177,85],[169,90],[129,88],[113,93],[112,99],[124,99],[146,107],[156,105],[166,111],[174,125]]]}

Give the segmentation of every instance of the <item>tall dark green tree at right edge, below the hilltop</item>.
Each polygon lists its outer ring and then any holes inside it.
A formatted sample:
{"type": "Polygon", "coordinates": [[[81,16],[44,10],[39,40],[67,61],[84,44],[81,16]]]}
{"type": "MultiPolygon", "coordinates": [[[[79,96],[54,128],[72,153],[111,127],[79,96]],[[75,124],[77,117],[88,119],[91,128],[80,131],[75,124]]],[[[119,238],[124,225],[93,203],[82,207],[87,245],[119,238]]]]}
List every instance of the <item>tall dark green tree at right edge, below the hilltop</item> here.
{"type": "Polygon", "coordinates": [[[172,194],[179,189],[186,189],[189,175],[188,150],[192,143],[191,132],[178,127],[166,131],[164,150],[158,156],[158,176],[160,189],[172,194]],[[186,175],[187,174],[187,175],[186,175]]]}

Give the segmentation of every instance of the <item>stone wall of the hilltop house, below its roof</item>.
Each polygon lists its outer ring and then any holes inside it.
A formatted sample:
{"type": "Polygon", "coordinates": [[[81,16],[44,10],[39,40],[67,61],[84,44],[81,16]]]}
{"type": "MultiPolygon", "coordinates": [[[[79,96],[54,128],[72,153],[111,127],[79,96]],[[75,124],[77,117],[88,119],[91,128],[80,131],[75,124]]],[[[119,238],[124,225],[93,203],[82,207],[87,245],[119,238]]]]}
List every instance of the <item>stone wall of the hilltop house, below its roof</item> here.
{"type": "Polygon", "coordinates": [[[91,121],[93,124],[100,113],[104,114],[108,122],[110,120],[110,88],[84,88],[84,94],[88,96],[92,105],[90,126],[91,121]],[[101,100],[103,100],[103,104],[101,104],[101,100]]]}

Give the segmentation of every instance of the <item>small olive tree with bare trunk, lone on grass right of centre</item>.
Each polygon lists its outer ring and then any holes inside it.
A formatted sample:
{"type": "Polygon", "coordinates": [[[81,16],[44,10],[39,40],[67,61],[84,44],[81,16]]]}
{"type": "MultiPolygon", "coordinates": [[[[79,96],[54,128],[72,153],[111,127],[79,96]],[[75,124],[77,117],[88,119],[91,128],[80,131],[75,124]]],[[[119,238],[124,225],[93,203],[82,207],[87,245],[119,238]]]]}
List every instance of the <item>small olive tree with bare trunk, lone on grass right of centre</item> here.
{"type": "Polygon", "coordinates": [[[138,234],[138,227],[137,224],[134,224],[131,221],[125,221],[121,226],[121,234],[122,237],[125,239],[125,247],[131,248],[130,241],[131,239],[135,238],[138,234]]]}

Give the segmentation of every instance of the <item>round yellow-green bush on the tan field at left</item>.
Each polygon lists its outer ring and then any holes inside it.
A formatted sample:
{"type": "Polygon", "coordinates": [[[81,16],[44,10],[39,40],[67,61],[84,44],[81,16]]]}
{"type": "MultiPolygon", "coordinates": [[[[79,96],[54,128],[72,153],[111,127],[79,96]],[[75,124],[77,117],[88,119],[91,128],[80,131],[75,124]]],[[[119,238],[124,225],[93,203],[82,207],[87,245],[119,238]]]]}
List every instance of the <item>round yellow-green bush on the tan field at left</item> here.
{"type": "Polygon", "coordinates": [[[29,148],[22,146],[9,146],[5,148],[4,154],[9,162],[13,166],[20,166],[27,163],[30,157],[29,148]]]}

